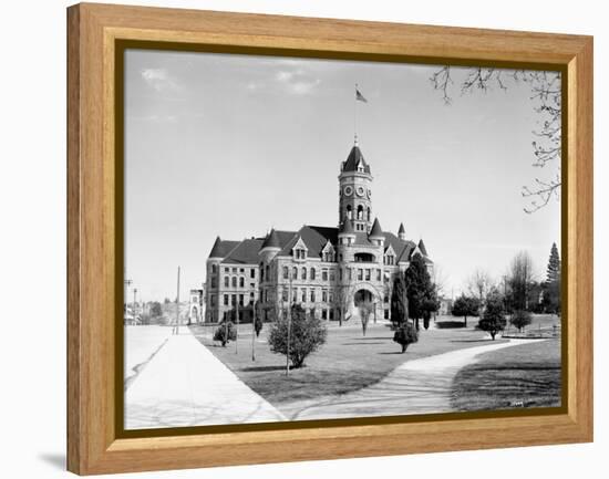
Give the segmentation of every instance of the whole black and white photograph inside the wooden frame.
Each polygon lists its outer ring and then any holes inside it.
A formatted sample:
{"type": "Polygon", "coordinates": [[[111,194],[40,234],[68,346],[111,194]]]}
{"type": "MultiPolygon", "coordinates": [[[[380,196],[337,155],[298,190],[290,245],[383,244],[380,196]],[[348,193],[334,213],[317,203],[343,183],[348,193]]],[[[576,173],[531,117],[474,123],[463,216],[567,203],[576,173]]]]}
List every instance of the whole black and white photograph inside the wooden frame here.
{"type": "Polygon", "coordinates": [[[125,430],[562,405],[559,72],[128,49],[123,106],[125,430]]]}

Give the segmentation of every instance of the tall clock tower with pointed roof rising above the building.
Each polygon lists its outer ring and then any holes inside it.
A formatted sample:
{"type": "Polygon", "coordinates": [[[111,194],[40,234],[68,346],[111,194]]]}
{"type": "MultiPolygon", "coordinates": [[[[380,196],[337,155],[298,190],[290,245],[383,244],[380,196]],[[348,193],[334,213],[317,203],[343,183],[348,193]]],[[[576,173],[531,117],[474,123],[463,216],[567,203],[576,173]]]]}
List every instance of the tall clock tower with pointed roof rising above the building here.
{"type": "Polygon", "coordinates": [[[358,145],[358,138],[349,156],[341,164],[339,175],[339,227],[348,218],[355,232],[370,232],[372,228],[372,175],[358,145]]]}

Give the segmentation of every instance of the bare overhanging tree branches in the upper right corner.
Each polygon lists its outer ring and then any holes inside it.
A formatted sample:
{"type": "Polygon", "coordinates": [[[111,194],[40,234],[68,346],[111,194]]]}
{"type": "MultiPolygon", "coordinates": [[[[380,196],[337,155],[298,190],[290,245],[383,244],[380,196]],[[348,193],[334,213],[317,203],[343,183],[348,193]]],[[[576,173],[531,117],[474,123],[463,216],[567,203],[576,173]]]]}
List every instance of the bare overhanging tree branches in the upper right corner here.
{"type": "Polygon", "coordinates": [[[434,90],[442,93],[447,105],[453,102],[455,70],[464,75],[458,81],[462,95],[475,91],[486,93],[493,87],[507,90],[508,84],[524,84],[530,88],[530,100],[539,125],[533,131],[533,166],[548,167],[550,174],[544,179],[535,177],[531,186],[523,186],[522,196],[529,201],[524,210],[528,214],[537,211],[551,198],[559,198],[562,126],[560,72],[442,66],[432,74],[430,81],[434,90]]]}

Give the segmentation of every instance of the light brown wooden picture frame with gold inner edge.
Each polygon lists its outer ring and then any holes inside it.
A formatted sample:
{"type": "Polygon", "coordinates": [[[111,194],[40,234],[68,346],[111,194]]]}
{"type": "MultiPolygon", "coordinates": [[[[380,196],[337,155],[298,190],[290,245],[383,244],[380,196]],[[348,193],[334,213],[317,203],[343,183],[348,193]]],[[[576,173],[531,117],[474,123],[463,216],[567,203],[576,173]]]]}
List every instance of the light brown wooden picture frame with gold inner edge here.
{"type": "Polygon", "coordinates": [[[78,4],[68,9],[68,469],[80,475],[592,440],[590,37],[78,4]],[[547,67],[562,80],[562,406],[124,430],[125,48],[547,67]]]}

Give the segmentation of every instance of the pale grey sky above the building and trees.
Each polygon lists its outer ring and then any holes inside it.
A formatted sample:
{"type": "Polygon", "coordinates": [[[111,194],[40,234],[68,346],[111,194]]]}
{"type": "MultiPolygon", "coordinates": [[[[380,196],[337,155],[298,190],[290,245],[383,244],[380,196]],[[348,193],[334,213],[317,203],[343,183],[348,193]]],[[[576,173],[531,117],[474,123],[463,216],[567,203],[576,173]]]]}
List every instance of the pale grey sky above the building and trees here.
{"type": "Polygon", "coordinates": [[[125,61],[125,274],[144,300],[205,281],[216,236],[337,226],[340,163],[358,136],[383,230],[423,238],[457,294],[476,268],[498,278],[527,250],[543,279],[560,204],[527,215],[539,117],[530,90],[445,105],[437,67],[130,50],[125,61]]]}

